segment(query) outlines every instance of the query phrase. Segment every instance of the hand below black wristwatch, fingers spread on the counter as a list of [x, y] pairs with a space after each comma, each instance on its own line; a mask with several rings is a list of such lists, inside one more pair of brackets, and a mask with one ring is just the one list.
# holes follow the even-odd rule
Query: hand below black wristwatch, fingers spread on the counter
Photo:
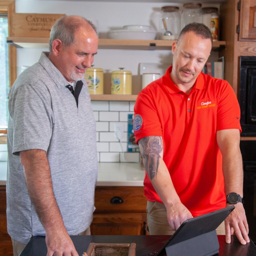
[[[231, 204], [227, 204], [227, 206], [231, 206]], [[226, 242], [230, 243], [230, 236], [235, 232], [241, 244], [250, 243], [250, 239], [248, 237], [249, 227], [243, 204], [239, 202], [235, 207], [236, 208], [225, 219]]]

